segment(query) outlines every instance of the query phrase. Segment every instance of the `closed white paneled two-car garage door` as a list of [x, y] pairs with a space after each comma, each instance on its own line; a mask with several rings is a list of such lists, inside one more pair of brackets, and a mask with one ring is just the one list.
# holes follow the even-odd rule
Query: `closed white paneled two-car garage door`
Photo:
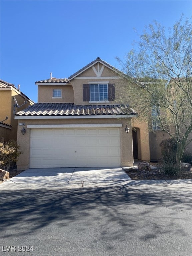
[[30, 168], [121, 165], [119, 128], [31, 129]]

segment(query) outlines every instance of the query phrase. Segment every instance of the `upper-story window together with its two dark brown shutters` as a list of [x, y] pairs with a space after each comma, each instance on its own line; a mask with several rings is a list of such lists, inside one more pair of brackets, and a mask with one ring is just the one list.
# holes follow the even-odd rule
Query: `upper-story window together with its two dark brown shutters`
[[115, 84], [89, 82], [83, 84], [83, 101], [109, 102], [115, 100]]

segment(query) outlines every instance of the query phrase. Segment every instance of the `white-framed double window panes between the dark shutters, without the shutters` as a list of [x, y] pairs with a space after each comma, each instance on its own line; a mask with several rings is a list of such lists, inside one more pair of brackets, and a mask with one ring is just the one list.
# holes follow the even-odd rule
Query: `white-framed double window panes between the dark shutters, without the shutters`
[[90, 84], [90, 101], [108, 101], [108, 84]]

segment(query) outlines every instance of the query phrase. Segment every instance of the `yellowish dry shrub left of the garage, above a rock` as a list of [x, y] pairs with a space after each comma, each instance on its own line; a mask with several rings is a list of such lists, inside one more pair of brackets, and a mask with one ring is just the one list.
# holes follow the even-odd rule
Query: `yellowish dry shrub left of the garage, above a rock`
[[16, 163], [17, 157], [21, 154], [17, 141], [10, 140], [5, 144], [0, 142], [0, 168], [9, 171], [12, 164]]

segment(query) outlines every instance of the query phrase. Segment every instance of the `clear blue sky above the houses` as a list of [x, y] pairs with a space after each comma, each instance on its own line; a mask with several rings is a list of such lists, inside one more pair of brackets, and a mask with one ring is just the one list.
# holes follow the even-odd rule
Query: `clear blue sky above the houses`
[[38, 80], [69, 77], [97, 57], [121, 68], [145, 26], [172, 27], [192, 1], [0, 1], [0, 79], [37, 102]]

